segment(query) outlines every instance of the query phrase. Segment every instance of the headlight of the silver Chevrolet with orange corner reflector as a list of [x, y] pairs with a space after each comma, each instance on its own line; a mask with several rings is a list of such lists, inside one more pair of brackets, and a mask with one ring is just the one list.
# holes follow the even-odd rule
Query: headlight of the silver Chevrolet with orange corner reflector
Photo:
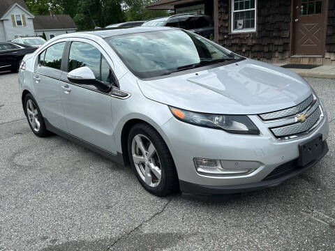
[[190, 112], [184, 109], [169, 107], [176, 119], [195, 126], [221, 129], [226, 132], [244, 135], [259, 135], [260, 130], [253, 121], [244, 115], [220, 115]]

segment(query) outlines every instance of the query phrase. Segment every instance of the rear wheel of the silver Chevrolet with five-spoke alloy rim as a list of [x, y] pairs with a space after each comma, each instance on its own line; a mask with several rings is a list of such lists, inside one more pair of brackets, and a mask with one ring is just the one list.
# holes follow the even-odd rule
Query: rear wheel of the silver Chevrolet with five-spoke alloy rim
[[40, 108], [38, 108], [37, 102], [31, 94], [27, 94], [24, 97], [24, 113], [27, 116], [27, 120], [31, 130], [38, 137], [46, 137], [50, 135], [50, 132], [45, 126], [45, 122]]

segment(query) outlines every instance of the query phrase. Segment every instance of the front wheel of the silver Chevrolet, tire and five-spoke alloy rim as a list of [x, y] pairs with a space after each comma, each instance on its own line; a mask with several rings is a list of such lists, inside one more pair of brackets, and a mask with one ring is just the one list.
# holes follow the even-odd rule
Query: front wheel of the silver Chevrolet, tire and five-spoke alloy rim
[[178, 189], [178, 178], [172, 155], [161, 135], [145, 123], [129, 132], [128, 155], [141, 185], [157, 196], [167, 196]]

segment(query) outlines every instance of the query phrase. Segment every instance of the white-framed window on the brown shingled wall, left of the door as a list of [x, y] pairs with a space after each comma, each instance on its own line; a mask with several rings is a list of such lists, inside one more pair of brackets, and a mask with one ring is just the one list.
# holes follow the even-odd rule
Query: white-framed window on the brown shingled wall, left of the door
[[257, 0], [232, 0], [232, 33], [256, 31]]

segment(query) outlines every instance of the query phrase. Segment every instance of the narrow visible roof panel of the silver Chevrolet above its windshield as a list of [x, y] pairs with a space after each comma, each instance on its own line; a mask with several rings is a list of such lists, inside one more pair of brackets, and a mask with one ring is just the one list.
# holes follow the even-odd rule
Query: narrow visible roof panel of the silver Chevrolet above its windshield
[[150, 31], [167, 31], [174, 30], [176, 28], [172, 27], [162, 27], [162, 26], [137, 26], [128, 29], [108, 29], [108, 30], [99, 30], [99, 31], [82, 31], [76, 33], [68, 33], [68, 36], [80, 36], [80, 34], [92, 34], [96, 36], [100, 36], [101, 38], [108, 38], [111, 36], [120, 36], [131, 33], [141, 33], [141, 32], [150, 32]]

